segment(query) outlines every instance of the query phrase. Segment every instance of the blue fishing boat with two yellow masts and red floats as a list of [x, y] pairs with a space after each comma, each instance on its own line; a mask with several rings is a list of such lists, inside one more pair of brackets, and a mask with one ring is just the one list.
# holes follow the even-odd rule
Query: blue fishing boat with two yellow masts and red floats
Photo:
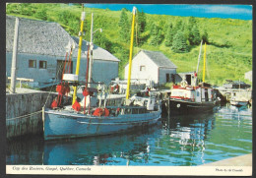
[[[136, 8], [133, 9], [131, 47], [129, 56], [130, 66], [132, 61], [135, 15]], [[82, 34], [83, 22], [85, 20], [84, 12], [82, 13], [81, 20], [82, 23], [80, 33]], [[80, 43], [81, 42], [82, 35], [80, 36]], [[97, 105], [90, 105], [91, 99], [93, 97], [97, 98], [97, 89], [89, 88], [87, 84], [83, 88], [83, 104], [79, 102], [76, 96], [77, 88], [79, 85], [78, 75], [81, 54], [81, 45], [79, 46], [80, 48], [77, 59], [76, 74], [63, 74], [63, 81], [70, 85], [74, 84], [75, 86], [72, 105], [58, 107], [58, 105], [56, 106], [55, 104], [55, 108], [43, 107], [42, 120], [44, 140], [109, 135], [114, 133], [126, 132], [128, 130], [138, 127], [141, 128], [156, 124], [160, 118], [160, 100], [158, 100], [158, 97], [156, 95], [151, 93], [148, 97], [130, 97], [129, 80], [126, 90], [126, 98], [124, 98], [124, 101], [121, 103], [121, 105], [107, 105], [107, 97], [105, 97], [104, 100], [97, 100]], [[90, 64], [88, 64], [88, 66], [90, 66]], [[130, 73], [131, 72], [129, 72], [129, 76], [131, 75]], [[130, 77], [128, 77], [128, 79], [130, 79]], [[102, 90], [103, 89], [101, 89], [100, 95], [103, 95]], [[102, 104], [102, 102], [104, 104]]]

